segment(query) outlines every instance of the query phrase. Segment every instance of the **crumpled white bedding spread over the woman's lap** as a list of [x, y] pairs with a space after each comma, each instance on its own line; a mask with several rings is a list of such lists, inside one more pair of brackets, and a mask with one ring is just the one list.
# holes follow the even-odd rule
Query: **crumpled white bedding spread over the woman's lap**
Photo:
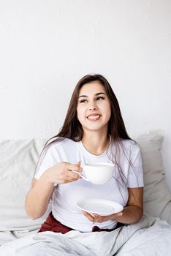
[[[0, 233], [0, 241], [2, 233]], [[12, 236], [11, 233], [8, 233]], [[6, 233], [6, 236], [8, 236]], [[7, 239], [7, 237], [6, 237]], [[112, 232], [42, 232], [15, 238], [0, 247], [1, 256], [157, 256], [170, 255], [171, 225], [145, 215], [140, 222]]]

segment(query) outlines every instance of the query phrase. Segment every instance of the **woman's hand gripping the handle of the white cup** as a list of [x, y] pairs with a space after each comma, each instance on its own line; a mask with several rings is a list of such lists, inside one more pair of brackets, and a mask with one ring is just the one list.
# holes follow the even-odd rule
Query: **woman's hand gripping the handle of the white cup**
[[80, 167], [80, 163], [72, 165], [69, 164], [69, 162], [60, 162], [47, 169], [41, 178], [50, 184], [66, 184], [72, 181], [77, 181], [80, 176], [72, 172], [72, 170], [81, 173], [82, 167]]

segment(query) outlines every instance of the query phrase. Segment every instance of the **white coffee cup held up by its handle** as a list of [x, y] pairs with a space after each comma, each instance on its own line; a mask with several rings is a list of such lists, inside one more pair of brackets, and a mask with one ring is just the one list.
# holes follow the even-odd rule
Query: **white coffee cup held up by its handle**
[[110, 181], [110, 178], [113, 176], [114, 165], [110, 163], [94, 162], [81, 165], [81, 167], [85, 176], [75, 170], [72, 171], [93, 184], [104, 184]]

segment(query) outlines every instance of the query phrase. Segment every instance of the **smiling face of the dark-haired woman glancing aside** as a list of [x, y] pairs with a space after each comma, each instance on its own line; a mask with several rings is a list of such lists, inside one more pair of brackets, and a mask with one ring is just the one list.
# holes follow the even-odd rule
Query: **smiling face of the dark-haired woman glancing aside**
[[86, 83], [77, 101], [77, 118], [83, 131], [107, 129], [111, 116], [110, 100], [99, 82]]

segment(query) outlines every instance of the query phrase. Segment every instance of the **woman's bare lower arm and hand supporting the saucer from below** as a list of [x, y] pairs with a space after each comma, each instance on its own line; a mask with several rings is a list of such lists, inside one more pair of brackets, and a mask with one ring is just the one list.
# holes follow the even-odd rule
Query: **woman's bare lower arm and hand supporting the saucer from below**
[[109, 219], [113, 219], [115, 222], [121, 222], [123, 224], [131, 224], [138, 222], [143, 213], [143, 187], [128, 188], [129, 200], [123, 211], [118, 214], [111, 214], [109, 216], [99, 216], [98, 214], [88, 214], [83, 211], [83, 214], [91, 222], [105, 222]]

